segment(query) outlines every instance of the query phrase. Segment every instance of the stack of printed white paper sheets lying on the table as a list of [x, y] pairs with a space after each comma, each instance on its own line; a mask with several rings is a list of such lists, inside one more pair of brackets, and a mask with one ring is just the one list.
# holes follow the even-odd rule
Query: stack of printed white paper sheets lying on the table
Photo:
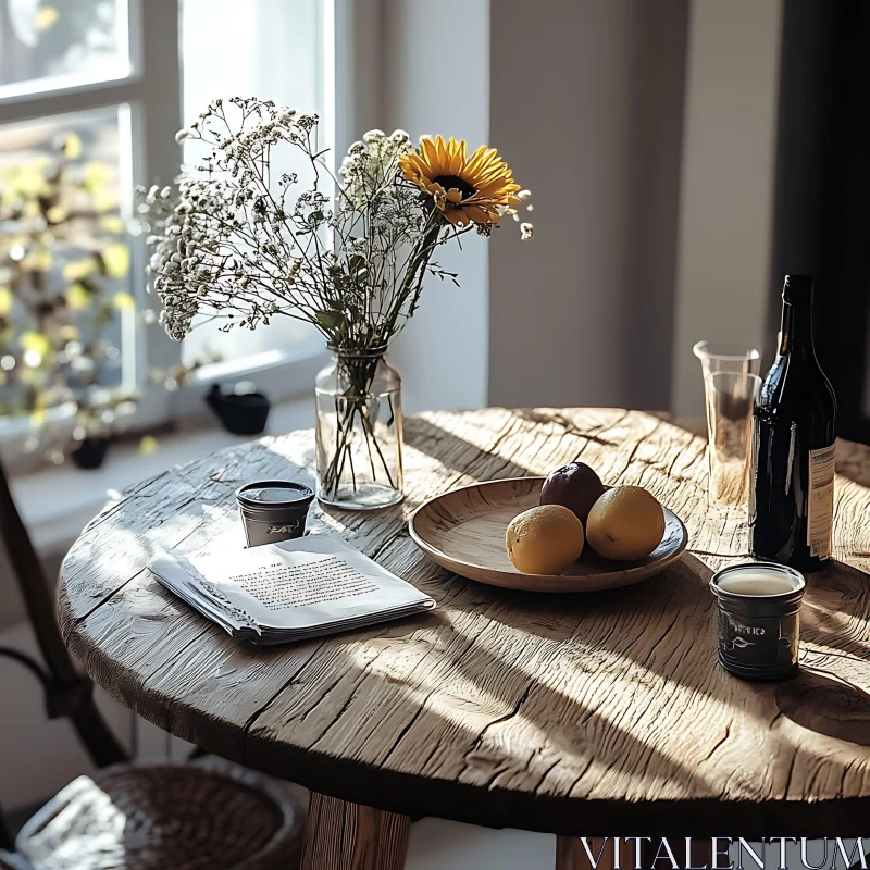
[[435, 607], [427, 595], [332, 535], [219, 547], [189, 560], [166, 554], [148, 567], [190, 607], [254, 644], [336, 634]]

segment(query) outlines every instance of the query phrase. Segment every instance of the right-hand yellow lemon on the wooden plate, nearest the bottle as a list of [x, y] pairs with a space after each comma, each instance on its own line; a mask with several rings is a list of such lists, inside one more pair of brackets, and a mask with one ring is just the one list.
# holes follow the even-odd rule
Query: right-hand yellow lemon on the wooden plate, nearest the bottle
[[661, 543], [664, 511], [641, 486], [614, 486], [589, 511], [586, 538], [605, 559], [643, 559]]

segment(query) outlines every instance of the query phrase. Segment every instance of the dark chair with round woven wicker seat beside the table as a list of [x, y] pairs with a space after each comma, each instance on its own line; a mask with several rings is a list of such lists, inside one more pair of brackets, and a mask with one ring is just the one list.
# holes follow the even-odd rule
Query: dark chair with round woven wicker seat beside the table
[[0, 868], [10, 870], [272, 870], [295, 867], [303, 810], [277, 781], [206, 757], [132, 762], [63, 644], [49, 586], [0, 465], [0, 582], [14, 577], [45, 667], [0, 647], [41, 683], [99, 769], [79, 776], [12, 838], [0, 809]]

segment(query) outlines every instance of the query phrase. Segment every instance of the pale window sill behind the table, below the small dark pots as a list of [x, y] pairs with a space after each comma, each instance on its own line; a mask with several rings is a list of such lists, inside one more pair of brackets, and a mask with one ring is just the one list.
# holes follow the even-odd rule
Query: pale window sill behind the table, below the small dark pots
[[[306, 428], [313, 422], [311, 399], [296, 399], [272, 409], [265, 434]], [[136, 443], [114, 444], [105, 463], [94, 471], [82, 471], [72, 464], [51, 467], [13, 477], [10, 484], [34, 546], [40, 556], [49, 557], [65, 552], [113, 493], [178, 463], [245, 440], [248, 439], [214, 426], [171, 433], [159, 436], [158, 449], [147, 456]]]

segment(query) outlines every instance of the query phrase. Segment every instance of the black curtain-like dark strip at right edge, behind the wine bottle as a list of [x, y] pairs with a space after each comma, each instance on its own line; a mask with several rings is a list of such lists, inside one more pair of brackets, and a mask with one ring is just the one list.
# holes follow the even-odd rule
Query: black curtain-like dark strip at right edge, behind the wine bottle
[[816, 276], [837, 434], [870, 444], [870, 75], [866, 0], [785, 0], [770, 345], [782, 275]]

